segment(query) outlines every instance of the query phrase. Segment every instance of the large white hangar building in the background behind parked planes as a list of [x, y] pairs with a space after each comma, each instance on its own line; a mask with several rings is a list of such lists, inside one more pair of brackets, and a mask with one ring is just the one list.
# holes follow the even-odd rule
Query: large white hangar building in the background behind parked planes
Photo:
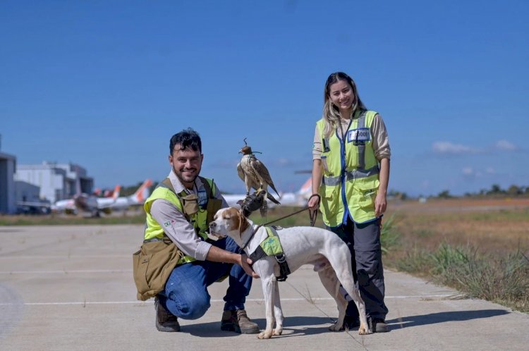
[[[54, 203], [70, 199], [76, 194], [92, 193], [94, 180], [87, 176], [85, 168], [76, 164], [56, 164], [44, 161], [42, 164], [19, 164], [15, 180], [40, 187], [40, 199]], [[22, 199], [17, 199], [22, 201]]]

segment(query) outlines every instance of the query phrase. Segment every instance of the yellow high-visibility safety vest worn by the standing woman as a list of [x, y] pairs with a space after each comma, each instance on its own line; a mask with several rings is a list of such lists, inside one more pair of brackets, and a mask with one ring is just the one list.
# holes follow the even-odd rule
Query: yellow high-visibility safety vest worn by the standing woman
[[320, 210], [329, 227], [346, 223], [351, 216], [356, 223], [372, 221], [379, 187], [379, 163], [372, 147], [370, 128], [375, 111], [356, 111], [341, 140], [335, 131], [324, 136], [325, 121], [316, 125], [322, 140], [323, 179], [320, 187]]

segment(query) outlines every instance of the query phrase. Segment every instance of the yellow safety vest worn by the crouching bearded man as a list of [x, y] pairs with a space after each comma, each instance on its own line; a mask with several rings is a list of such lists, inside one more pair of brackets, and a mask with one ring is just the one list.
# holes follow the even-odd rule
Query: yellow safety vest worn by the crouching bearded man
[[[199, 177], [200, 180], [202, 180], [202, 185], [204, 185], [205, 189], [199, 189], [199, 210], [196, 214], [193, 214], [193, 216], [187, 216], [186, 218], [188, 221], [193, 225], [193, 228], [195, 228], [195, 232], [197, 235], [202, 237], [204, 240], [207, 239], [207, 230], [209, 229], [208, 226], [208, 210], [212, 211], [213, 209], [209, 206], [212, 202], [216, 202], [213, 198], [214, 192], [214, 183], [213, 180]], [[168, 183], [170, 184], [170, 183]], [[207, 197], [207, 202], [205, 204], [200, 204], [200, 192], [205, 192], [203, 196]], [[174, 192], [174, 189], [171, 187], [168, 187], [163, 182], [159, 183], [159, 185], [154, 189], [150, 197], [148, 197], [145, 200], [145, 204], [143, 204], [143, 208], [145, 209], [145, 214], [147, 214], [147, 219], [145, 223], [145, 236], [144, 240], [163, 240], [164, 238], [164, 228], [158, 223], [154, 218], [152, 218], [150, 210], [152, 207], [152, 202], [156, 199], [166, 199], [167, 201], [171, 202], [171, 204], [174, 204], [176, 208], [184, 213], [183, 211], [183, 204], [181, 202], [181, 197], [186, 197], [188, 195], [186, 191], [182, 191], [180, 194], [176, 194]], [[220, 206], [218, 206], [220, 208]], [[216, 211], [216, 210], [215, 210]], [[214, 213], [213, 213], [214, 214]], [[171, 226], [171, 221], [167, 221], [166, 223], [162, 223], [163, 226]], [[176, 243], [175, 243], [176, 244]], [[178, 245], [177, 245], [178, 247]], [[184, 255], [181, 257], [181, 259], [178, 260], [177, 264], [183, 264], [187, 262], [195, 261], [194, 257], [190, 257], [188, 255]]]

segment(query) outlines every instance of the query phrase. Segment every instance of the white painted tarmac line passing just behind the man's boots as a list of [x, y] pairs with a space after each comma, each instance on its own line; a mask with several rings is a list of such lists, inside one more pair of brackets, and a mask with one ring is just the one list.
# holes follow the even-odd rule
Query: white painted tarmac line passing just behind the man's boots
[[[386, 299], [416, 299], [416, 298], [442, 298], [452, 297], [454, 295], [398, 295], [398, 296], [386, 296]], [[310, 299], [311, 301], [334, 301], [332, 297], [317, 297]], [[246, 299], [246, 302], [263, 302], [263, 299]], [[281, 299], [281, 301], [307, 301], [302, 297]], [[223, 302], [224, 300], [211, 300], [211, 302]], [[86, 305], [86, 304], [154, 304], [153, 301], [94, 301], [94, 302], [0, 302], [0, 306], [12, 306], [14, 304], [23, 304], [25, 306], [53, 306], [53, 305]]]

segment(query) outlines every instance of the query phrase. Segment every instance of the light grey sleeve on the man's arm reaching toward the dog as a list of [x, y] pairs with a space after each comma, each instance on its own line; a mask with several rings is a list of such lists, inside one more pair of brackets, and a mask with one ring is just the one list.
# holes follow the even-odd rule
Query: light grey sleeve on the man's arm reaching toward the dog
[[195, 233], [195, 228], [174, 204], [165, 199], [155, 200], [152, 203], [151, 216], [184, 254], [205, 261], [212, 245]]

